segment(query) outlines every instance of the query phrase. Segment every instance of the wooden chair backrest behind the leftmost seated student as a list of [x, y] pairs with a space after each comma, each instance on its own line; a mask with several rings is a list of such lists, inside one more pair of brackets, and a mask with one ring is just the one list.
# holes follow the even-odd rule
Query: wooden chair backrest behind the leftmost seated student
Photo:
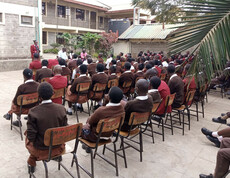
[[24, 95], [19, 95], [17, 97], [18, 106], [34, 104], [34, 103], [38, 103], [38, 93], [24, 94]]

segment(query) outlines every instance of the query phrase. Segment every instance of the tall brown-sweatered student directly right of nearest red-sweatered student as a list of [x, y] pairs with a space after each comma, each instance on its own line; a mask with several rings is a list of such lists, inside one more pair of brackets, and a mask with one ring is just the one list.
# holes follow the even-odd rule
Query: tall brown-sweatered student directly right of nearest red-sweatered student
[[172, 107], [180, 108], [184, 102], [184, 82], [177, 74], [175, 74], [174, 65], [169, 65], [167, 71], [170, 77], [168, 82], [170, 93], [171, 94], [176, 93]]

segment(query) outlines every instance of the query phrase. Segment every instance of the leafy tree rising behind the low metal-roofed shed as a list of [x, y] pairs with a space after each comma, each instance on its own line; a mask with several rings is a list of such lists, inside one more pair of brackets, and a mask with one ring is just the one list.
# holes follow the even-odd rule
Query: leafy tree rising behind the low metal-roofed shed
[[132, 0], [134, 6], [151, 11], [156, 15], [156, 21], [160, 23], [176, 23], [182, 13], [178, 7], [183, 0]]

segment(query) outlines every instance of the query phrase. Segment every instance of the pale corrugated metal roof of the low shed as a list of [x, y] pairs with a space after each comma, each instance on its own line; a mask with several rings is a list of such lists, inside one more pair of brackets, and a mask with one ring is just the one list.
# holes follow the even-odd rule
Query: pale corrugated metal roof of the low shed
[[140, 24], [130, 26], [118, 39], [158, 39], [165, 40], [167, 36], [184, 24]]

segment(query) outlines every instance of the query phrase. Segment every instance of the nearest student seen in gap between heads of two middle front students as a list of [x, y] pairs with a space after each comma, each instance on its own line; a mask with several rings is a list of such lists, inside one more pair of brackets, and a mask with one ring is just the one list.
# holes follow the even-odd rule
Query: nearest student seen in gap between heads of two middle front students
[[131, 64], [129, 62], [126, 62], [124, 65], [125, 68], [125, 72], [123, 74], [121, 74], [120, 78], [119, 78], [119, 87], [122, 88], [123, 87], [123, 83], [125, 81], [132, 81], [132, 85], [134, 84], [134, 74], [131, 72], [130, 68], [131, 68]]

